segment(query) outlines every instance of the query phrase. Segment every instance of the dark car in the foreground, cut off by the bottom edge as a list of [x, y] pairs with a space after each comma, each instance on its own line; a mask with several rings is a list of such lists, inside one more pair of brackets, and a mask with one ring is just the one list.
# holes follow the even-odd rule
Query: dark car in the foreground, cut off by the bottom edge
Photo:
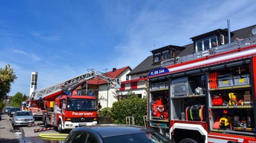
[[95, 125], [72, 129], [65, 143], [173, 143], [152, 129], [133, 125]]

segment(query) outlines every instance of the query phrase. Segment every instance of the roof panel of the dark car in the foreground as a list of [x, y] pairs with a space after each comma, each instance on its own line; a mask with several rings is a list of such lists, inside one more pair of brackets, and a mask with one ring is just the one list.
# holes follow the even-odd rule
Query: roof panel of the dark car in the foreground
[[94, 134], [99, 134], [102, 137], [110, 137], [110, 136], [123, 135], [123, 134], [135, 134], [140, 132], [154, 132], [153, 130], [142, 127], [142, 126], [113, 125], [113, 124], [83, 126], [83, 127], [75, 128], [73, 130], [74, 132], [79, 132], [79, 131], [92, 132]]

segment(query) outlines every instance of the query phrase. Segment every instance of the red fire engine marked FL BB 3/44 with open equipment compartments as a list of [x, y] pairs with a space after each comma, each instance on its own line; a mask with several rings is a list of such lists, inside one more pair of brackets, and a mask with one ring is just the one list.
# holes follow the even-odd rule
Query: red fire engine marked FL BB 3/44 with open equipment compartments
[[256, 36], [148, 74], [148, 126], [176, 143], [256, 143]]

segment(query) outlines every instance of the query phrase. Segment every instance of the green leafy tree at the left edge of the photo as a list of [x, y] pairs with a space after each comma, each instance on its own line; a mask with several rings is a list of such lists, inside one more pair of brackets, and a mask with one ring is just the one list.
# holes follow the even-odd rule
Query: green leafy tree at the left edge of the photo
[[7, 98], [7, 94], [11, 91], [11, 83], [17, 79], [14, 69], [8, 64], [5, 68], [0, 68], [0, 101]]

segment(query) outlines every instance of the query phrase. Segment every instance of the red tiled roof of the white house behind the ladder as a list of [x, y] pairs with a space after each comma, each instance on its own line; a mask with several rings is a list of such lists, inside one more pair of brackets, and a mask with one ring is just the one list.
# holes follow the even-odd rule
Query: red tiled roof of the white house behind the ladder
[[[132, 70], [132, 69], [130, 68], [130, 66], [126, 66], [126, 67], [124, 67], [124, 68], [116, 69], [116, 71], [114, 71], [114, 72], [113, 72], [113, 71], [106, 72], [105, 74], [106, 74], [106, 75], [109, 75], [110, 77], [116, 78], [116, 77], [118, 77], [120, 74], [122, 74], [122, 72], [125, 71], [127, 68], [129, 68], [130, 70]], [[93, 85], [100, 85], [100, 84], [105, 84], [105, 83], [106, 83], [105, 80], [101, 80], [101, 79], [99, 79], [99, 78], [97, 78], [97, 77], [95, 77], [95, 78], [92, 79], [92, 80], [88, 80], [88, 84], [93, 84]]]

